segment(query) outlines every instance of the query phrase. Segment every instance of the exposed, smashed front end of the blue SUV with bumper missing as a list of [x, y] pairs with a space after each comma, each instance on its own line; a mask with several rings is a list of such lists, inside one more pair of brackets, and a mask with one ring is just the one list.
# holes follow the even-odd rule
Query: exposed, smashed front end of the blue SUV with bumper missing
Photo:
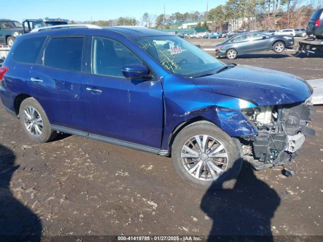
[[243, 157], [255, 169], [286, 164], [298, 155], [305, 136], [314, 135], [307, 125], [315, 109], [310, 103], [258, 106], [242, 109], [258, 131], [257, 136], [240, 139]]

